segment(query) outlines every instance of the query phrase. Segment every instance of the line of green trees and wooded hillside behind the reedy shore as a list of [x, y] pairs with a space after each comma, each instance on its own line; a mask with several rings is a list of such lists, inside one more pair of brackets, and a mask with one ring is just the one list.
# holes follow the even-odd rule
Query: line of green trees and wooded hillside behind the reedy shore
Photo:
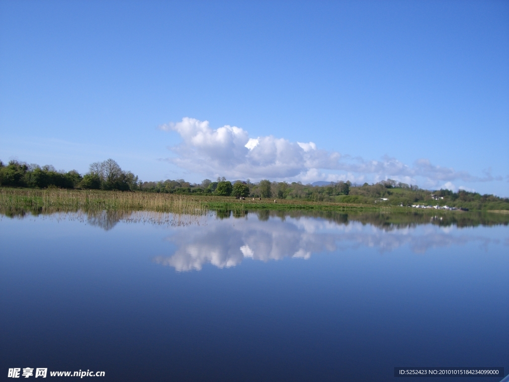
[[425, 190], [387, 179], [375, 184], [352, 184], [350, 181], [331, 182], [313, 186], [301, 182], [274, 182], [263, 179], [252, 183], [249, 179], [229, 181], [218, 177], [190, 183], [184, 179], [142, 182], [130, 171], [124, 171], [113, 159], [94, 162], [89, 171], [80, 175], [71, 170], [56, 171], [53, 166], [28, 165], [11, 160], [7, 165], [0, 161], [0, 185], [11, 187], [59, 187], [76, 189], [104, 189], [149, 193], [234, 196], [270, 199], [297, 199], [316, 202], [340, 202], [380, 205], [411, 206], [416, 203], [448, 205], [471, 209], [509, 209], [509, 199], [494, 195], [447, 189]]

